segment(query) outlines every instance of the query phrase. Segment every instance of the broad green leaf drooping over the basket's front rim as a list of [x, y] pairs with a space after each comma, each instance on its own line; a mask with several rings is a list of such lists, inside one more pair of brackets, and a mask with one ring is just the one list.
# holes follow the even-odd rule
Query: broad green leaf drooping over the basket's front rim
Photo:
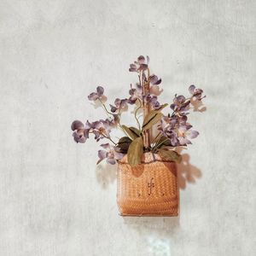
[[137, 137], [128, 149], [128, 163], [130, 166], [137, 166], [142, 162], [143, 156], [143, 138]]

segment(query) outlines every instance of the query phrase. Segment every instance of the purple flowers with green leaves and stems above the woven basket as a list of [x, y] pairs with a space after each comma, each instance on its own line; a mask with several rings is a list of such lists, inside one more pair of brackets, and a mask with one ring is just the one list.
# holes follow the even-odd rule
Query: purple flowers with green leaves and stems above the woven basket
[[[137, 166], [142, 163], [143, 154], [147, 152], [158, 154], [163, 160], [180, 162], [182, 157], [177, 153], [177, 148], [186, 147], [191, 144], [191, 139], [199, 135], [189, 124], [188, 114], [191, 108], [197, 109], [202, 105], [201, 100], [205, 97], [202, 96], [203, 90], [190, 85], [189, 97], [175, 95], [171, 103], [160, 104], [158, 96], [163, 91], [160, 90], [161, 79], [150, 73], [148, 63], [149, 57], [141, 55], [130, 65], [129, 71], [137, 73], [138, 83], [131, 85], [127, 98], [117, 98], [109, 108], [102, 86], [90, 93], [89, 101], [100, 102], [108, 114], [107, 119], [94, 122], [87, 120], [85, 124], [79, 120], [73, 121], [71, 129], [76, 143], [85, 143], [90, 134], [94, 135], [96, 142], [108, 141], [101, 144], [97, 164], [107, 160], [108, 164], [114, 165], [127, 154], [129, 165]], [[121, 115], [129, 109], [129, 105], [135, 106], [137, 127], [121, 122]], [[167, 106], [171, 112], [164, 115], [162, 110]], [[143, 120], [140, 120], [141, 113]], [[155, 136], [153, 127], [157, 131]], [[113, 129], [123, 131], [124, 137], [114, 141], [111, 136]]]

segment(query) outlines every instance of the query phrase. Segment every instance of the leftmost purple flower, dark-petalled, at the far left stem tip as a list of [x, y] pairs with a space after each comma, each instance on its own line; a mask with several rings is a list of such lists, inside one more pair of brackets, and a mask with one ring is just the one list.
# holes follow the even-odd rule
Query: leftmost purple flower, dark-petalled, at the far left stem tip
[[89, 138], [90, 132], [90, 123], [87, 120], [86, 124], [84, 125], [81, 121], [75, 120], [71, 125], [71, 130], [73, 132], [73, 139], [76, 143], [85, 143], [86, 139]]

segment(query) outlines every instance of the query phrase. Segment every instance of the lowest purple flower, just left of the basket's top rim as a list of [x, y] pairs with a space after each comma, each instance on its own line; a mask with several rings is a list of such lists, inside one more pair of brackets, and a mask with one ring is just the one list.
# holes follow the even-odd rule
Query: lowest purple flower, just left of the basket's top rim
[[119, 153], [118, 147], [113, 147], [109, 143], [102, 144], [101, 147], [106, 150], [98, 151], [99, 160], [97, 164], [99, 164], [102, 160], [107, 159], [108, 164], [114, 165], [116, 160], [121, 160], [124, 157], [124, 154]]

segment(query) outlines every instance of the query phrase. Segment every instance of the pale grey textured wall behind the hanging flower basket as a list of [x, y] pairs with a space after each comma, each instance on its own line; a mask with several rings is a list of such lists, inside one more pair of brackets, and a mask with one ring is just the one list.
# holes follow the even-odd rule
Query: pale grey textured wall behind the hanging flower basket
[[[255, 255], [255, 1], [0, 2], [0, 255]], [[115, 169], [73, 143], [86, 96], [126, 96], [149, 55], [165, 95], [207, 111], [179, 166], [179, 218], [121, 218]], [[129, 118], [126, 118], [129, 120]]]

